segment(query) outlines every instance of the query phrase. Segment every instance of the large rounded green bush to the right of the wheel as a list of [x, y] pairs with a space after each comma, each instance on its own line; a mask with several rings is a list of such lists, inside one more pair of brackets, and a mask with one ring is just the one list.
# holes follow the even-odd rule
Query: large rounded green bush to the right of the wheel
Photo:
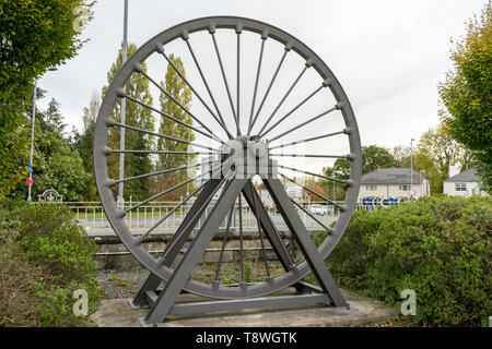
[[[356, 212], [328, 258], [342, 287], [394, 304], [417, 293], [412, 321], [479, 326], [492, 315], [492, 200], [424, 197]], [[319, 237], [323, 240], [323, 237]]]

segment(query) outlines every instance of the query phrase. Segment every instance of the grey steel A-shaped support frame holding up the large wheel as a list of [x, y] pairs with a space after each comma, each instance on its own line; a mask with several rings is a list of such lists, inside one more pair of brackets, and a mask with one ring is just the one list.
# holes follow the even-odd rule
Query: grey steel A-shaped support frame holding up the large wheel
[[[325, 303], [337, 308], [348, 306], [343, 296], [338, 289], [336, 281], [331, 277], [330, 272], [326, 267], [320, 253], [318, 252], [307, 229], [298, 217], [280, 180], [263, 179], [263, 182], [268, 191], [270, 192], [274, 203], [277, 204], [289, 229], [291, 230], [291, 233], [295, 239], [301, 252], [303, 253], [306, 263], [309, 265], [320, 286], [311, 286], [303, 288], [317, 293], [282, 297], [261, 297], [253, 299], [244, 298], [234, 300], [213, 300], [206, 302], [175, 304], [177, 296], [183, 291], [187, 282], [190, 280], [191, 273], [195, 266], [212, 241], [213, 236], [216, 233], [221, 221], [224, 219], [230, 208], [233, 207], [235, 200], [239, 195], [239, 193], [244, 194], [251, 208], [255, 207], [254, 201], [257, 201], [256, 207], [258, 207], [258, 209], [255, 212], [255, 215], [259, 216], [261, 227], [266, 232], [268, 240], [270, 241], [273, 250], [278, 253], [284, 268], [286, 270], [295, 270], [295, 264], [292, 260], [292, 256], [286, 251], [286, 248], [280, 239], [280, 234], [278, 233], [274, 225], [265, 210], [265, 207], [262, 205], [258, 205], [258, 202], [260, 203], [260, 200], [250, 180], [233, 179], [225, 184], [221, 197], [213, 206], [211, 214], [204, 221], [204, 225], [201, 227], [200, 231], [197, 233], [196, 238], [186, 250], [184, 257], [174, 269], [172, 277], [164, 284], [164, 288], [159, 293], [159, 297], [155, 297], [152, 300], [153, 304], [149, 314], [144, 318], [140, 318], [140, 323], [142, 326], [163, 325], [165, 317], [171, 314], [192, 314], [262, 306], [273, 308], [301, 305], [311, 303]], [[163, 256], [165, 256], [165, 264], [167, 266], [171, 266], [171, 264], [173, 264], [186, 239], [191, 233], [192, 228], [195, 227], [194, 224], [197, 222], [200, 216], [200, 208], [203, 207], [203, 204], [208, 204], [211, 200], [211, 196], [213, 196], [214, 191], [212, 188], [214, 185], [220, 185], [220, 183], [211, 183], [204, 189], [202, 194], [200, 194], [190, 213], [187, 215], [187, 218], [191, 218], [187, 219], [186, 222], [181, 222], [178, 231], [176, 232], [177, 238], [173, 239], [176, 241], [176, 243], [172, 245], [169, 244], [171, 249], [166, 249], [166, 252], [164, 252]], [[199, 202], [201, 204], [199, 204]], [[195, 214], [192, 214], [192, 212], [195, 212]], [[130, 304], [137, 306], [142, 305], [144, 302], [147, 302], [149, 291], [154, 292], [153, 294], [156, 294], [155, 291], [160, 284], [161, 279], [157, 276], [151, 274], [143, 285], [142, 289], [140, 290], [139, 294], [136, 297], [133, 302], [130, 302]], [[296, 289], [300, 288], [296, 287]]]

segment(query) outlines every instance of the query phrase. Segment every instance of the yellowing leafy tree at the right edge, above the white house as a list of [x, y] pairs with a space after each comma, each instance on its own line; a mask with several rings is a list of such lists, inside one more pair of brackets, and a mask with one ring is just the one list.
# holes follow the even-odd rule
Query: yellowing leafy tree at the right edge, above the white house
[[[452, 44], [453, 40], [452, 40]], [[475, 152], [487, 186], [492, 181], [492, 2], [475, 15], [452, 50], [453, 70], [438, 85], [449, 134]]]

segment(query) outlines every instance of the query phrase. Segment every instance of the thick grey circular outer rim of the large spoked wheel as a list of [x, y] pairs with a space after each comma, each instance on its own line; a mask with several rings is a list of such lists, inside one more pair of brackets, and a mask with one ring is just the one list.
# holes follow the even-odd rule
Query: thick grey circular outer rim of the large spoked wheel
[[[163, 280], [167, 280], [171, 277], [173, 269], [162, 266], [159, 260], [153, 257], [149, 253], [149, 251], [147, 251], [143, 248], [143, 244], [139, 241], [139, 239], [136, 239], [133, 237], [131, 230], [125, 222], [124, 212], [121, 209], [118, 209], [118, 205], [112, 192], [112, 188], [113, 185], [115, 185], [115, 180], [109, 179], [108, 177], [107, 159], [106, 159], [107, 155], [110, 154], [110, 149], [107, 148], [108, 130], [115, 127], [115, 121], [112, 120], [110, 116], [118, 99], [125, 95], [125, 92], [122, 89], [125, 83], [130, 79], [131, 74], [133, 74], [134, 72], [139, 72], [141, 67], [140, 64], [143, 63], [149, 57], [151, 57], [152, 55], [161, 55], [163, 48], [165, 48], [166, 45], [175, 40], [184, 39], [186, 44], [190, 43], [192, 40], [191, 34], [195, 34], [197, 32], [209, 32], [214, 40], [214, 44], [216, 44], [213, 34], [218, 29], [235, 31], [238, 37], [238, 41], [242, 33], [251, 32], [259, 36], [262, 43], [261, 45], [263, 45], [267, 40], [274, 40], [277, 43], [284, 45], [286, 47], [285, 52], [289, 51], [295, 52], [302, 59], [305, 60], [306, 69], [313, 68], [316, 71], [316, 73], [319, 75], [320, 81], [323, 82], [323, 86], [328, 87], [325, 89], [329, 91], [331, 93], [331, 96], [337, 101], [336, 109], [341, 113], [341, 117], [345, 125], [345, 129], [342, 130], [343, 132], [338, 133], [344, 133], [348, 136], [348, 145], [350, 148], [350, 160], [351, 160], [350, 179], [347, 181], [348, 189], [343, 206], [344, 212], [340, 214], [340, 217], [338, 218], [335, 227], [332, 228], [333, 230], [332, 234], [330, 234], [318, 249], [324, 258], [326, 258], [331, 253], [333, 248], [338, 244], [339, 240], [342, 238], [349, 225], [351, 215], [355, 209], [356, 205], [361, 178], [361, 149], [360, 149], [361, 146], [360, 146], [359, 130], [352, 107], [345, 93], [343, 92], [343, 88], [341, 87], [340, 83], [332, 74], [332, 72], [329, 70], [329, 68], [323, 62], [323, 60], [319, 59], [319, 57], [314, 51], [312, 51], [307, 46], [305, 46], [302, 41], [291, 36], [290, 34], [274, 26], [255, 20], [233, 17], [233, 16], [214, 16], [214, 17], [198, 19], [178, 24], [174, 27], [171, 27], [162, 32], [161, 34], [154, 36], [152, 39], [147, 41], [122, 65], [121, 70], [115, 76], [104, 97], [103, 104], [99, 109], [99, 115], [96, 121], [96, 130], [94, 139], [94, 172], [98, 195], [101, 197], [101, 202], [106, 213], [106, 216], [112, 227], [114, 228], [115, 232], [118, 234], [118, 237], [120, 238], [121, 242], [126, 245], [126, 248], [132, 253], [132, 255], [151, 273], [157, 275]], [[237, 73], [237, 75], [239, 76], [239, 73]], [[231, 75], [230, 77], [232, 76], [233, 75]], [[268, 80], [268, 77], [266, 79]], [[224, 81], [226, 80], [224, 79]], [[258, 77], [256, 80], [256, 84], [257, 83]], [[223, 88], [223, 86], [221, 87]], [[251, 94], [253, 92], [248, 93]], [[254, 94], [255, 96], [257, 96], [256, 87]], [[268, 96], [268, 89], [265, 96]], [[232, 97], [231, 94], [229, 97], [233, 110], [232, 118], [236, 118], [236, 116], [234, 115], [234, 101], [231, 100], [233, 99], [231, 98]], [[259, 94], [256, 99], [257, 105], [259, 105], [258, 108], [261, 108], [261, 97], [262, 96]], [[239, 105], [238, 100], [239, 97], [237, 97], [236, 107]], [[251, 110], [254, 109], [255, 108], [251, 108]], [[247, 115], [248, 112], [245, 113], [245, 116]], [[218, 112], [215, 113], [215, 117], [219, 117]], [[265, 125], [263, 122], [267, 121], [268, 118], [270, 117], [271, 115], [269, 113], [261, 115], [260, 112], [258, 112], [258, 117], [256, 118], [256, 120], [255, 117], [249, 118], [248, 131], [249, 129], [251, 129], [250, 130], [251, 132], [254, 131], [254, 128], [256, 127], [256, 123], [254, 121], [258, 122], [260, 125]], [[270, 123], [267, 121], [267, 127], [262, 127], [259, 130], [262, 131], [263, 133], [268, 132], [272, 125], [273, 127], [276, 125], [277, 121], [281, 120], [281, 118], [283, 118], [282, 115], [277, 115], [270, 118], [269, 120]], [[221, 118], [218, 119], [219, 119], [218, 123], [220, 125], [220, 120], [222, 119]], [[249, 128], [251, 123], [254, 125], [253, 128]], [[207, 125], [204, 127], [207, 128]], [[211, 130], [210, 127], [208, 129]], [[241, 129], [241, 127], [238, 125], [237, 129]], [[271, 129], [270, 131], [272, 132], [274, 129], [276, 128]], [[277, 140], [281, 140], [283, 137], [282, 139], [283, 142], [277, 143], [274, 144], [274, 146], [278, 146], [282, 143], [291, 143], [288, 142], [288, 140], [284, 139], [284, 136], [286, 134], [292, 135], [292, 132], [289, 132], [285, 135], [282, 135], [281, 133], [280, 136], [278, 133], [276, 134], [274, 132], [272, 133], [268, 132], [268, 134], [270, 135], [269, 141], [271, 143], [273, 143]], [[283, 156], [281, 158], [283, 159]], [[280, 168], [282, 168], [282, 170], [289, 169], [289, 167], [285, 166], [282, 167], [282, 165], [280, 166]], [[309, 172], [306, 171], [305, 173], [308, 174]], [[282, 288], [293, 285], [294, 282], [307, 276], [309, 272], [311, 270], [307, 264], [305, 262], [302, 262], [301, 264], [297, 265], [297, 268], [294, 272], [292, 270], [286, 272], [284, 275], [276, 278], [273, 282], [265, 281], [248, 286], [247, 288], [239, 288], [239, 287], [223, 287], [223, 286], [214, 287], [210, 284], [208, 285], [196, 280], [190, 280], [190, 282], [186, 287], [186, 290], [203, 297], [220, 298], [220, 299], [260, 297], [273, 293]]]

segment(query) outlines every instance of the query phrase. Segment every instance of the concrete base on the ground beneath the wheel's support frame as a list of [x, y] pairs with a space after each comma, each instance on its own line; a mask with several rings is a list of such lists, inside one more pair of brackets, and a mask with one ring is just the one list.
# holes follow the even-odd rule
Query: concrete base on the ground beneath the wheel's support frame
[[[292, 291], [292, 289], [290, 290]], [[282, 292], [285, 294], [285, 292]], [[200, 315], [168, 316], [167, 327], [353, 327], [395, 316], [395, 311], [380, 303], [342, 290], [350, 310], [324, 305], [289, 306], [216, 312]], [[178, 302], [203, 300], [194, 294], [180, 294]], [[92, 320], [101, 327], [140, 327], [139, 317], [149, 309], [132, 310], [127, 299], [104, 299]]]

